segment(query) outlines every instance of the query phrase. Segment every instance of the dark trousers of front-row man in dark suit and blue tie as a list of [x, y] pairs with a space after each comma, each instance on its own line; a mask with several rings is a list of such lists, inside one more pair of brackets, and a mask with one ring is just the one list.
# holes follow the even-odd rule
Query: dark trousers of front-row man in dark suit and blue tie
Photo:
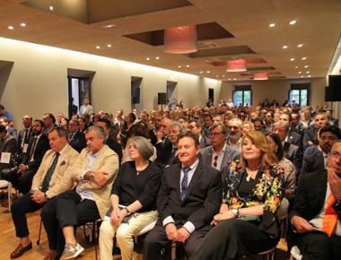
[[[181, 228], [183, 224], [177, 225], [177, 229]], [[201, 230], [195, 230], [190, 234], [185, 244], [186, 256], [191, 256], [199, 245], [201, 239], [205, 237], [212, 226], [205, 226]], [[144, 259], [160, 259], [162, 248], [169, 246], [171, 241], [167, 238], [166, 230], [158, 221], [144, 240]]]

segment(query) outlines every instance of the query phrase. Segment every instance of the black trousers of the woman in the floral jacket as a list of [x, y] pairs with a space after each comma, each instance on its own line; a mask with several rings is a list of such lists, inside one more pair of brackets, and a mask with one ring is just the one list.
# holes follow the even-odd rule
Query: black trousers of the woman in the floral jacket
[[278, 238], [270, 238], [248, 221], [220, 221], [201, 241], [190, 260], [227, 260], [258, 254], [275, 247]]

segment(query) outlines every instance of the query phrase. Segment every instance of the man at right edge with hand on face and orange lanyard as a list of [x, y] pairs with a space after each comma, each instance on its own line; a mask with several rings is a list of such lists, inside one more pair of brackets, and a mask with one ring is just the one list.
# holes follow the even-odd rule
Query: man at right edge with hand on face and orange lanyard
[[302, 259], [341, 256], [341, 142], [328, 154], [328, 168], [302, 177], [289, 218]]

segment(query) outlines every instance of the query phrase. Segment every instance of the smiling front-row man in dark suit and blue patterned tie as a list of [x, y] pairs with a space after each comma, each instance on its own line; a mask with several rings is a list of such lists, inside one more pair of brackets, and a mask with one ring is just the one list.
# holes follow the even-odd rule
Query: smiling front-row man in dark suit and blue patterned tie
[[197, 135], [179, 135], [179, 160], [164, 169], [157, 198], [159, 220], [144, 240], [144, 259], [160, 259], [162, 247], [170, 241], [185, 244], [191, 256], [222, 203], [222, 180], [218, 170], [197, 159]]

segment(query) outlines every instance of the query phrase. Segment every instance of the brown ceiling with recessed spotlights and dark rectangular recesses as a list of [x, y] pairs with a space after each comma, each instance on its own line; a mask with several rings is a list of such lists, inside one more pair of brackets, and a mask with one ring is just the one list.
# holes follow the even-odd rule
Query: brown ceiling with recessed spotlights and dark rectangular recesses
[[[227, 81], [325, 77], [339, 0], [0, 0], [0, 37]], [[163, 30], [197, 25], [198, 51], [163, 50]], [[247, 72], [226, 72], [246, 59]], [[1, 60], [1, 51], [0, 51]]]

